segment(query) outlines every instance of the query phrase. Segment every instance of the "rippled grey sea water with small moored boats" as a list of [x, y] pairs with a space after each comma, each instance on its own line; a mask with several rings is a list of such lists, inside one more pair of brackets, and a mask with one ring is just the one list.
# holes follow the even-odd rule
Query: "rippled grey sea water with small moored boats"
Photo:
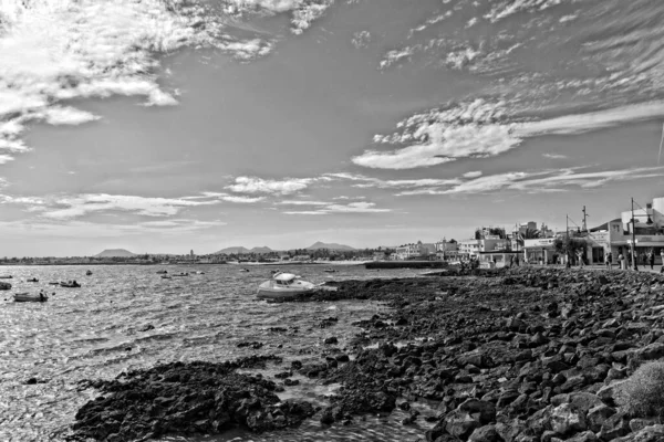
[[[93, 275], [85, 276], [91, 270]], [[277, 354], [287, 364], [259, 370], [266, 376], [283, 371], [289, 360], [320, 360], [323, 339], [339, 338], [339, 347], [360, 332], [351, 323], [384, 311], [378, 303], [267, 304], [256, 299], [259, 283], [273, 266], [0, 266], [13, 287], [0, 292], [0, 440], [58, 441], [73, 423], [76, 410], [94, 390], [76, 391], [81, 379], [111, 379], [127, 369], [147, 368], [174, 360], [224, 361], [252, 354]], [[418, 271], [366, 271], [364, 266], [298, 265], [292, 271], [307, 281], [413, 276]], [[203, 275], [163, 280], [156, 274], [203, 271]], [[39, 283], [25, 280], [37, 277]], [[76, 280], [81, 288], [62, 288], [49, 282]], [[6, 280], [2, 280], [6, 281]], [[14, 303], [17, 292], [50, 294], [46, 303]], [[54, 293], [54, 294], [52, 294]], [[339, 323], [320, 328], [330, 316]], [[146, 326], [153, 329], [141, 332]], [[270, 327], [288, 328], [272, 333]], [[297, 327], [297, 329], [294, 328]], [[242, 341], [261, 341], [258, 350], [238, 348]], [[24, 385], [35, 377], [46, 383]], [[334, 386], [294, 377], [281, 399], [301, 398], [324, 404]], [[425, 404], [423, 407], [426, 408]], [[163, 441], [409, 441], [426, 425], [404, 427], [401, 411], [390, 417], [323, 428], [310, 420], [299, 429], [255, 435], [243, 432], [217, 436], [166, 438]]]

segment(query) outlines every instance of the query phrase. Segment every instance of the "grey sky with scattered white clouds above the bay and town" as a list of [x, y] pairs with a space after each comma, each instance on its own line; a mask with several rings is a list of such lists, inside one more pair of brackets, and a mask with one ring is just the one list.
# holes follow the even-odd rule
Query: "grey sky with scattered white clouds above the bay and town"
[[661, 0], [4, 0], [0, 256], [355, 248], [664, 196]]

